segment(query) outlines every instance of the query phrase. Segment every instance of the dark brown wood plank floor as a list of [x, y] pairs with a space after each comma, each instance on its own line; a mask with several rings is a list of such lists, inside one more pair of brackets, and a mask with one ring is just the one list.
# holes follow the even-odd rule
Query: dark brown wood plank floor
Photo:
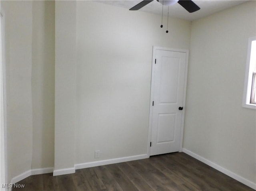
[[74, 174], [32, 175], [12, 191], [254, 191], [185, 153], [78, 169]]

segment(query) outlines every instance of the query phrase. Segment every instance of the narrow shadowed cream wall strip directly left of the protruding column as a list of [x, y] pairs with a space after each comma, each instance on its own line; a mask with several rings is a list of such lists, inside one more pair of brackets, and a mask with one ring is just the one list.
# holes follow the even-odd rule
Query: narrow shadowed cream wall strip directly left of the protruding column
[[32, 169], [54, 166], [54, 1], [33, 1]]

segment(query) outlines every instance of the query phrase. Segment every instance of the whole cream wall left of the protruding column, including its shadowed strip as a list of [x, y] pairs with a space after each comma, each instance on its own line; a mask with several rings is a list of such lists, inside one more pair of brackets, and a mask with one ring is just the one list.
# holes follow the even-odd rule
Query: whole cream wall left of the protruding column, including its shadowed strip
[[11, 183], [31, 169], [54, 166], [55, 10], [53, 1], [1, 1], [1, 10], [6, 19], [6, 183]]

